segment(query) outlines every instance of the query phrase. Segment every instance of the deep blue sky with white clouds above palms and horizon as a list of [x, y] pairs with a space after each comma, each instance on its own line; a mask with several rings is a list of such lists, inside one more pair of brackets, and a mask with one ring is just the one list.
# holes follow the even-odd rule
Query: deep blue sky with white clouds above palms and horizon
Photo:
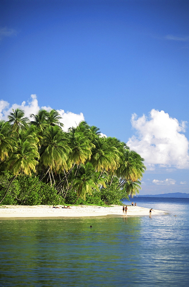
[[[3, 0], [0, 117], [59, 110], [145, 158], [140, 194], [189, 193], [189, 1]], [[32, 96], [31, 96], [32, 95]]]

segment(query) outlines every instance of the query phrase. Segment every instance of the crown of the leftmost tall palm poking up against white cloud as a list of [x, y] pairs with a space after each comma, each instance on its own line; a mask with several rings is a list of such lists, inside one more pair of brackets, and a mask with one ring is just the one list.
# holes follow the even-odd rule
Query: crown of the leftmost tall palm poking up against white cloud
[[16, 132], [18, 132], [20, 128], [26, 128], [27, 122], [29, 121], [27, 117], [24, 117], [24, 111], [20, 110], [19, 108], [13, 110], [13, 113], [10, 113], [8, 119], [8, 122], [11, 123], [12, 131]]

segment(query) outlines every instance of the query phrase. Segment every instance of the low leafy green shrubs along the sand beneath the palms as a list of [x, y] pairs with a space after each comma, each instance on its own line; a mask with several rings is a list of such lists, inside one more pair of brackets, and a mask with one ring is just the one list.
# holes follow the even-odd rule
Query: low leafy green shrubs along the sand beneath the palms
[[[5, 194], [9, 181], [12, 175], [9, 171], [3, 171], [0, 174], [0, 199]], [[121, 205], [121, 199], [128, 199], [128, 195], [125, 189], [118, 189], [117, 183], [113, 183], [111, 186], [107, 186], [98, 191], [93, 191], [91, 195], [86, 194], [85, 200], [79, 198], [76, 204], [118, 204]], [[77, 199], [77, 193], [72, 190], [69, 191], [63, 199], [60, 195], [57, 195], [57, 191], [50, 184], [39, 182], [38, 177], [35, 175], [18, 175], [10, 186], [2, 204], [6, 205], [51, 205], [51, 204], [73, 204]]]

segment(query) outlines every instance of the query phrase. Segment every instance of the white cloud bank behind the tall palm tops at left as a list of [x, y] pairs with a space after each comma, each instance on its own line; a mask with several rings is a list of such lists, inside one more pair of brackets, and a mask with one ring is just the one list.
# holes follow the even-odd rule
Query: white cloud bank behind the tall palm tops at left
[[[25, 101], [22, 102], [21, 105], [19, 104], [13, 104], [10, 106], [10, 104], [4, 100], [0, 101], [0, 119], [3, 119], [5, 121], [8, 120], [8, 115], [12, 112], [12, 110], [15, 110], [16, 108], [20, 108], [21, 110], [24, 110], [25, 116], [30, 118], [31, 114], [36, 114], [40, 108], [43, 108], [45, 110], [52, 110], [50, 106], [42, 106], [40, 107], [38, 105], [37, 96], [35, 94], [31, 95], [30, 101], [26, 104]], [[66, 112], [64, 110], [57, 110], [57, 112], [61, 115], [62, 119], [60, 120], [63, 124], [63, 130], [67, 131], [69, 127], [77, 127], [77, 125], [84, 121], [85, 118], [82, 113], [80, 114], [74, 114], [71, 112]]]

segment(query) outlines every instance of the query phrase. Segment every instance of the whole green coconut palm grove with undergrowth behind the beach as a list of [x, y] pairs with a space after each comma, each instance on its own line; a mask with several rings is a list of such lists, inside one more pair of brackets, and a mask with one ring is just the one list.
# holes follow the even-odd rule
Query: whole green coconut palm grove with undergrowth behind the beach
[[0, 121], [0, 203], [121, 204], [141, 189], [144, 159], [85, 121], [63, 131], [56, 110]]

